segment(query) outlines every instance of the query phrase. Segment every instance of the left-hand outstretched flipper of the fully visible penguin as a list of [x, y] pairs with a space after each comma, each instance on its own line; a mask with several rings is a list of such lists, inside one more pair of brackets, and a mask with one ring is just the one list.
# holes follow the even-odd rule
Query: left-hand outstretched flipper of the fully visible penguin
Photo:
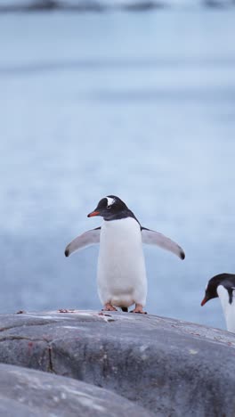
[[73, 252], [76, 252], [76, 250], [84, 249], [87, 246], [100, 243], [100, 234], [101, 227], [96, 227], [96, 229], [88, 230], [85, 233], [79, 234], [79, 236], [77, 236], [77, 238], [75, 238], [73, 241], [70, 241], [69, 245], [67, 245], [65, 248], [65, 256], [69, 257], [69, 255], [71, 255]]

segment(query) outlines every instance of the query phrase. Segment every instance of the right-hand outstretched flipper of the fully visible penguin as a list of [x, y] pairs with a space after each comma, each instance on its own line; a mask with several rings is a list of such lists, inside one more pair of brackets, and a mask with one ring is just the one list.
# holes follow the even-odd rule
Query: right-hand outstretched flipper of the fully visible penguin
[[185, 258], [184, 251], [177, 243], [175, 243], [175, 241], [167, 238], [162, 233], [155, 232], [154, 230], [147, 229], [146, 227], [142, 227], [142, 242], [147, 243], [148, 245], [156, 245], [159, 246], [159, 248], [169, 250], [181, 259]]

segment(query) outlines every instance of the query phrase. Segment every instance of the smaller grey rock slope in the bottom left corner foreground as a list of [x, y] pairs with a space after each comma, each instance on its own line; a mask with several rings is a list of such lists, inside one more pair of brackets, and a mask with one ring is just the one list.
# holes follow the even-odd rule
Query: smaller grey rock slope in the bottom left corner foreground
[[152, 414], [107, 389], [45, 372], [0, 364], [0, 415], [150, 417]]

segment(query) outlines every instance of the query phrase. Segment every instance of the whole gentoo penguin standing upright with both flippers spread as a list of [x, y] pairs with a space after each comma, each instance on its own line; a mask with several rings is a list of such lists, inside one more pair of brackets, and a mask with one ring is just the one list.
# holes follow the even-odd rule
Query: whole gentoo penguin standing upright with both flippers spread
[[97, 268], [98, 293], [103, 310], [116, 311], [135, 305], [144, 314], [147, 279], [142, 243], [157, 245], [184, 259], [182, 248], [161, 233], [142, 227], [125, 202], [115, 195], [101, 199], [87, 217], [101, 216], [100, 227], [77, 236], [65, 249], [69, 257], [77, 249], [100, 243]]

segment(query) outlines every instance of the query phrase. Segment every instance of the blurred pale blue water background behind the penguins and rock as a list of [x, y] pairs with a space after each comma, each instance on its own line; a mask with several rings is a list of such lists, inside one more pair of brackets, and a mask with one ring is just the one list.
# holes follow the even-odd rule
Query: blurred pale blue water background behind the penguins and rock
[[116, 194], [185, 250], [144, 248], [151, 314], [225, 328], [235, 273], [232, 1], [0, 0], [0, 313], [101, 307], [98, 247], [64, 257]]

